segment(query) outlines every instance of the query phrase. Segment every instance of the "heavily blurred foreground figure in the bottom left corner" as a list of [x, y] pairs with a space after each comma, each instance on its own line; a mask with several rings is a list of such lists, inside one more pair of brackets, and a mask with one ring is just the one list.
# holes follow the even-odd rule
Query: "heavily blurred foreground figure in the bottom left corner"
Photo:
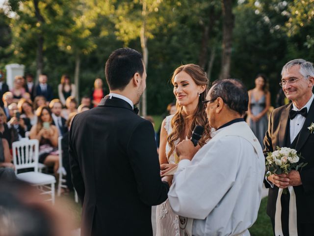
[[0, 181], [0, 236], [70, 236], [72, 224], [60, 209], [35, 187]]

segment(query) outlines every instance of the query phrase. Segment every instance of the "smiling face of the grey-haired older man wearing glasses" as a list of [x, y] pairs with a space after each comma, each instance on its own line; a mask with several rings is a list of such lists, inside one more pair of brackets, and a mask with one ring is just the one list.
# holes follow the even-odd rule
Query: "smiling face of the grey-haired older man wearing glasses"
[[309, 81], [307, 78], [300, 73], [300, 66], [293, 65], [289, 70], [283, 72], [282, 81], [289, 81], [290, 79], [295, 79], [294, 83], [288, 82], [283, 86], [286, 97], [289, 100], [295, 101], [301, 99], [306, 93], [311, 92], [312, 88], [309, 86]]

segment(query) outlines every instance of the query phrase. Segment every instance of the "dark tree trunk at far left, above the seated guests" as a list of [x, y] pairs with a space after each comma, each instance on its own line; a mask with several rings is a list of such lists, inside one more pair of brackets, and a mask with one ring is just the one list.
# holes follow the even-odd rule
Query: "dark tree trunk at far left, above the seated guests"
[[[43, 24], [45, 23], [45, 20], [43, 16], [40, 13], [39, 7], [38, 7], [38, 0], [33, 0], [34, 8], [35, 8], [35, 16], [37, 19], [37, 27], [42, 29]], [[44, 48], [44, 36], [42, 30], [39, 30], [40, 32], [37, 33], [37, 51], [36, 51], [36, 82], [38, 82], [38, 77], [40, 74], [43, 73], [43, 67], [44, 67], [44, 59], [43, 59], [43, 48]]]

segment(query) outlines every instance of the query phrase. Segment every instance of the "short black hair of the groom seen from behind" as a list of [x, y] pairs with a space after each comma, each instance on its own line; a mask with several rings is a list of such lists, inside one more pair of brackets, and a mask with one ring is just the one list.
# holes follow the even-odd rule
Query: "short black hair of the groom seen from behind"
[[105, 76], [110, 90], [123, 90], [136, 72], [143, 76], [143, 56], [131, 48], [113, 51], [105, 64]]

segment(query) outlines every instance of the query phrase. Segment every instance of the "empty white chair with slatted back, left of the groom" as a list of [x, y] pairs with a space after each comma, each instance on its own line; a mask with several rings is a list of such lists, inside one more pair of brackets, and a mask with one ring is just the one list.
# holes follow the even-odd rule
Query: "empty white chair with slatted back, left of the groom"
[[[15, 174], [18, 179], [24, 180], [34, 186], [41, 186], [41, 194], [50, 194], [51, 199], [47, 201], [52, 201], [52, 204], [54, 204], [55, 177], [38, 172], [38, 148], [37, 139], [12, 143]], [[26, 168], [34, 168], [34, 171], [17, 174], [18, 170]]]

